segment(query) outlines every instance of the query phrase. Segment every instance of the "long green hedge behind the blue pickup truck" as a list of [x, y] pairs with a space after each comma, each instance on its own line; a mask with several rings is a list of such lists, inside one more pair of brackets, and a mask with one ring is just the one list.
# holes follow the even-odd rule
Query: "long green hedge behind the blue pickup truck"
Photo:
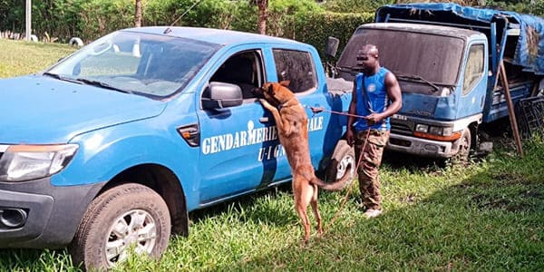
[[[214, 27], [257, 32], [257, 6], [248, 0], [142, 0], [142, 25], [176, 25]], [[0, 27], [19, 25], [24, 29], [24, 5], [16, 0], [0, 0]], [[11, 7], [11, 11], [5, 6]], [[192, 8], [191, 8], [192, 6]], [[17, 16], [15, 16], [17, 15]], [[271, 0], [268, 6], [267, 34], [314, 44], [320, 53], [326, 38], [340, 39], [341, 49], [359, 24], [371, 22], [373, 13], [339, 14], [325, 12], [314, 0]], [[44, 39], [47, 33], [67, 42], [79, 36], [89, 42], [112, 31], [131, 27], [134, 0], [34, 0], [34, 34]], [[21, 25], [22, 24], [22, 25]], [[21, 31], [22, 32], [22, 31]]]

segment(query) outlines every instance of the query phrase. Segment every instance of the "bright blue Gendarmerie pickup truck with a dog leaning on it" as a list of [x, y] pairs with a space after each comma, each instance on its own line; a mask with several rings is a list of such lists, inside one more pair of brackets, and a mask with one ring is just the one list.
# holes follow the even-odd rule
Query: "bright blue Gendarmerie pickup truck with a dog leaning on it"
[[[189, 27], [108, 34], [42, 73], [0, 81], [0, 248], [69, 245], [112, 267], [127, 248], [159, 257], [188, 213], [291, 179], [253, 88], [289, 80], [306, 106], [316, 171], [353, 175], [352, 83], [316, 49]], [[323, 107], [311, 112], [310, 107]]]

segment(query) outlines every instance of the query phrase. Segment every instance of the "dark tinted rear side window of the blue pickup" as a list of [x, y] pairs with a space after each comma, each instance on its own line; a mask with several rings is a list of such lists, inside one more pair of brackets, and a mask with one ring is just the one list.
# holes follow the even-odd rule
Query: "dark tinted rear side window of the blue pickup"
[[278, 81], [289, 81], [292, 92], [306, 92], [317, 86], [315, 64], [310, 53], [274, 49]]

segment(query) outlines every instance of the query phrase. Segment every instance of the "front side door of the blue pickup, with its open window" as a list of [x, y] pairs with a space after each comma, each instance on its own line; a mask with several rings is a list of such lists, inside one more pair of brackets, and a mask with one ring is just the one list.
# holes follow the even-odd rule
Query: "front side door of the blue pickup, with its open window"
[[209, 82], [238, 84], [244, 102], [221, 110], [197, 110], [201, 204], [247, 193], [272, 180], [262, 160], [270, 156], [267, 152], [277, 132], [261, 122], [266, 112], [251, 92], [264, 82], [264, 63], [261, 49], [238, 46], [225, 53], [203, 80], [202, 91]]

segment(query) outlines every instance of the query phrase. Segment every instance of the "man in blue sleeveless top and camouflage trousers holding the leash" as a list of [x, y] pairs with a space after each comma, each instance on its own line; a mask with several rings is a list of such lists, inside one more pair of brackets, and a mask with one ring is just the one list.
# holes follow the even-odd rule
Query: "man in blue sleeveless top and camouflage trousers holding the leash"
[[362, 73], [355, 77], [349, 113], [363, 118], [348, 118], [346, 136], [350, 146], [355, 143], [357, 162], [363, 153], [357, 173], [364, 216], [370, 219], [382, 214], [378, 167], [389, 140], [389, 117], [401, 109], [402, 95], [394, 74], [380, 66], [375, 45], [364, 45], [356, 58]]

